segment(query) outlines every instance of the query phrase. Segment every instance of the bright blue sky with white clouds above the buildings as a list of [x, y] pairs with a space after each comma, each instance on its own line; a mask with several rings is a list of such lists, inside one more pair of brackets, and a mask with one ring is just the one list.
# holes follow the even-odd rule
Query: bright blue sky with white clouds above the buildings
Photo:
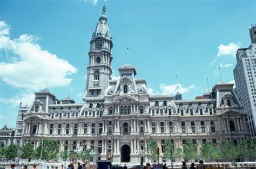
[[194, 99], [233, 81], [235, 51], [248, 47], [256, 1], [0, 0], [0, 124], [15, 128], [18, 105], [46, 86], [57, 98], [82, 102], [89, 41], [102, 7], [113, 38], [112, 69], [137, 67], [152, 94]]

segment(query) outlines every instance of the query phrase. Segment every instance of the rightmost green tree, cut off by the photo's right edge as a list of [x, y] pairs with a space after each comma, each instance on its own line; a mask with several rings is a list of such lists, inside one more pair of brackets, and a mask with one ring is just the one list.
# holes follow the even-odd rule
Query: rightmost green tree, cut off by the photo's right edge
[[250, 156], [256, 157], [256, 139], [246, 139], [240, 142], [240, 152], [242, 156], [248, 158]]

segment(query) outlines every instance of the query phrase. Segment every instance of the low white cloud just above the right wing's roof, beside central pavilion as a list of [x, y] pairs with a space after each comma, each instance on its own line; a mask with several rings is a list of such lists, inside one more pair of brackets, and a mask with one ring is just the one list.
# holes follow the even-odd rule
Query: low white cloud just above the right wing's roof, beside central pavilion
[[195, 88], [195, 85], [191, 85], [189, 87], [183, 87], [180, 83], [178, 84], [178, 88], [176, 84], [173, 85], [165, 85], [164, 83], [162, 83], [160, 85], [160, 90], [161, 90], [161, 94], [162, 95], [174, 95], [176, 94], [178, 91], [179, 93], [183, 94], [183, 93], [187, 93], [188, 91], [190, 91], [191, 89]]

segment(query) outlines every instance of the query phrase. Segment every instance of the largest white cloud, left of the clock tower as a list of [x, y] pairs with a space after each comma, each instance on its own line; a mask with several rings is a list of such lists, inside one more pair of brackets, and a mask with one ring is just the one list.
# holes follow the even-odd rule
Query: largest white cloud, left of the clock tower
[[0, 36], [0, 51], [15, 56], [12, 62], [0, 62], [0, 78], [10, 86], [29, 90], [45, 88], [47, 76], [48, 87], [69, 85], [71, 79], [67, 76], [76, 73], [77, 69], [68, 61], [43, 50], [36, 40], [36, 36], [28, 34], [17, 39], [11, 39], [8, 34]]

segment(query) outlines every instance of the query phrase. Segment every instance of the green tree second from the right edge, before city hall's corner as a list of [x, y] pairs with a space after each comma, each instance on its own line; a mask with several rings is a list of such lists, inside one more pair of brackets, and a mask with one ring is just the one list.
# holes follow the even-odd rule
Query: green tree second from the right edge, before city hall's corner
[[234, 161], [239, 157], [239, 149], [233, 140], [222, 140], [220, 144], [221, 157], [228, 161]]

